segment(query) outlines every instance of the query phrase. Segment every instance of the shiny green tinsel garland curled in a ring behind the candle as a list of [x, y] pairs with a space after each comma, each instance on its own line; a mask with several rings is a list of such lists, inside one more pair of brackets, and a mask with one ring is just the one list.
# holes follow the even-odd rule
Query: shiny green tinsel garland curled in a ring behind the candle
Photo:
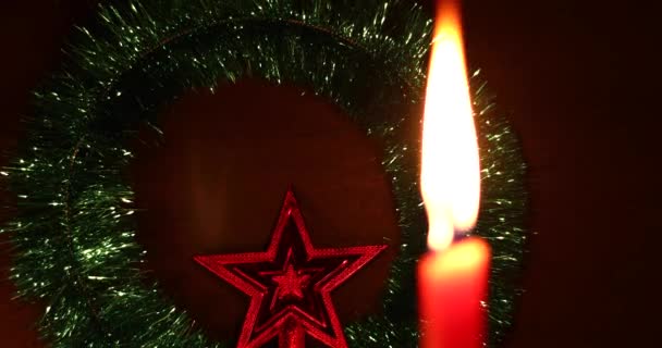
[[[417, 346], [415, 266], [426, 220], [419, 140], [404, 134], [422, 99], [431, 21], [412, 1], [163, 0], [105, 2], [35, 92], [15, 159], [0, 171], [16, 195], [4, 228], [19, 295], [47, 303], [54, 347], [225, 347], [209, 341], [140, 272], [131, 139], [191, 89], [260, 77], [306, 87], [382, 138], [402, 233], [383, 314], [345, 323], [352, 347]], [[523, 257], [524, 165], [516, 137], [471, 78], [483, 196], [475, 234], [493, 248], [489, 338], [510, 325]], [[13, 204], [8, 204], [13, 206]], [[8, 207], [8, 209], [10, 209]]]

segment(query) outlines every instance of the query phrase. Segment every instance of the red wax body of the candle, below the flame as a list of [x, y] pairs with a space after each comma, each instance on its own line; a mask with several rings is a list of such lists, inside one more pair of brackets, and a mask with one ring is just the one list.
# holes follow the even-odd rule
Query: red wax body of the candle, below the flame
[[430, 251], [420, 260], [421, 348], [482, 346], [489, 263], [489, 246], [477, 238]]

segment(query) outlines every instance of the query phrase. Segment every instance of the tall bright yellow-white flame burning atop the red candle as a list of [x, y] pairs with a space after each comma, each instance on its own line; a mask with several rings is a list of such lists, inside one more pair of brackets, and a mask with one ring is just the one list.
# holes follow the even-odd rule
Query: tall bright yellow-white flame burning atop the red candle
[[441, 1], [424, 113], [420, 184], [429, 221], [428, 246], [441, 250], [454, 231], [476, 223], [480, 163], [462, 39], [459, 1]]

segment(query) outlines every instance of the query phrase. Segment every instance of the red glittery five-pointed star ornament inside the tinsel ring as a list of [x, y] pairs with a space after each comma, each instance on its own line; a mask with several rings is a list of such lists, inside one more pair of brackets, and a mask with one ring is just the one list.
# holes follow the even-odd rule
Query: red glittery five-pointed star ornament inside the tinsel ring
[[303, 348], [309, 335], [346, 348], [331, 291], [385, 245], [316, 249], [290, 189], [267, 251], [196, 256], [194, 260], [250, 297], [237, 348]]

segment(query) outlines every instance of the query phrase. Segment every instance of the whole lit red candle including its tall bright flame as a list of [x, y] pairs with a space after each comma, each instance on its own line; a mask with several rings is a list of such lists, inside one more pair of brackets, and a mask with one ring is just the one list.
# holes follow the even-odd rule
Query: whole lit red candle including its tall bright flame
[[441, 1], [424, 114], [421, 194], [430, 252], [419, 263], [422, 348], [481, 346], [490, 251], [477, 238], [452, 245], [478, 215], [480, 163], [462, 40], [459, 3]]

